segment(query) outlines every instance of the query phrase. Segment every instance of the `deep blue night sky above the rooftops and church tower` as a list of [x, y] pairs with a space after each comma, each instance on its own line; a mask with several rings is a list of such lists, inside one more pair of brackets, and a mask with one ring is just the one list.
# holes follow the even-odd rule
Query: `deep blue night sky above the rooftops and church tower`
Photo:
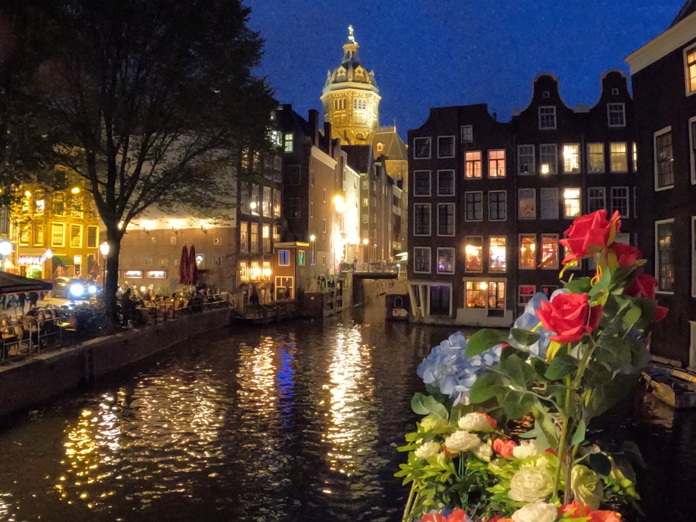
[[[322, 113], [326, 72], [352, 24], [374, 70], [381, 125], [406, 139], [430, 107], [486, 103], [498, 120], [524, 109], [539, 72], [564, 102], [594, 106], [609, 69], [665, 31], [685, 0], [242, 0], [265, 40], [262, 65], [280, 103]], [[493, 8], [494, 6], [494, 8]]]

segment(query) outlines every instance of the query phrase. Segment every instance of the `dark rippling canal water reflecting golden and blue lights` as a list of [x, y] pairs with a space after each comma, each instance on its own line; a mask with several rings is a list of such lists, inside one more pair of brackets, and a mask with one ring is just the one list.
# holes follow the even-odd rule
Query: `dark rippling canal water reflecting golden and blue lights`
[[[453, 329], [382, 307], [215, 333], [3, 421], [0, 520], [400, 521], [416, 365]], [[693, 521], [692, 413], [637, 393], [600, 432], [640, 446], [647, 520]]]

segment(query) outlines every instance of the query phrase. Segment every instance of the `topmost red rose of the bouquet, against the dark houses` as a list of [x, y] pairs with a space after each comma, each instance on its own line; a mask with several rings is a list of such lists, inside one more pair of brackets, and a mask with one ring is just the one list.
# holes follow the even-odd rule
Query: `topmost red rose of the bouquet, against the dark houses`
[[570, 249], [563, 264], [586, 258], [601, 251], [609, 244], [610, 237], [613, 237], [612, 232], [616, 233], [620, 228], [621, 220], [618, 211], [614, 212], [609, 221], [607, 221], [606, 209], [578, 217], [565, 231], [568, 237], [560, 240], [560, 244]]

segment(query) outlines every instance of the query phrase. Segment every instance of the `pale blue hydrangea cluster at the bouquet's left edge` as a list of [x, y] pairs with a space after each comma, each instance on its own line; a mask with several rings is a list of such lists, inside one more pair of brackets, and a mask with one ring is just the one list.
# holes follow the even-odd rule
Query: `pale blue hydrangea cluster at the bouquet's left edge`
[[454, 404], [469, 404], [470, 389], [477, 375], [500, 361], [502, 349], [498, 345], [480, 355], [467, 357], [466, 337], [458, 331], [433, 347], [429, 356], [418, 365], [418, 377], [426, 384], [436, 386], [443, 395], [451, 397]]

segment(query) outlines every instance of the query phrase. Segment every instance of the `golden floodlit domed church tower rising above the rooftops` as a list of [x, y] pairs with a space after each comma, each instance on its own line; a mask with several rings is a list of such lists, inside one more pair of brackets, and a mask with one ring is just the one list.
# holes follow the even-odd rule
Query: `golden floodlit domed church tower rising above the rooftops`
[[374, 71], [367, 72], [358, 58], [353, 26], [343, 45], [343, 61], [326, 73], [322, 93], [324, 121], [331, 122], [332, 137], [347, 145], [369, 145], [379, 127], [379, 89]]

